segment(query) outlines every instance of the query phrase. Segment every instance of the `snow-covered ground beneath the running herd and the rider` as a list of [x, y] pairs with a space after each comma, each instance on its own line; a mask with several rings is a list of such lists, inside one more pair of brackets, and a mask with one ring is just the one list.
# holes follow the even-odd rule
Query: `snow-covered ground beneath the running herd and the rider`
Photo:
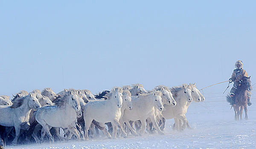
[[[205, 95], [204, 103], [192, 103], [186, 114], [195, 129], [183, 132], [172, 130], [174, 120], [167, 120], [165, 135], [145, 135], [143, 137], [107, 139], [98, 138], [89, 141], [67, 141], [52, 144], [30, 144], [7, 146], [7, 149], [255, 149], [256, 148], [256, 100], [248, 109], [249, 120], [234, 120], [222, 93]], [[244, 117], [244, 115], [243, 115]]]

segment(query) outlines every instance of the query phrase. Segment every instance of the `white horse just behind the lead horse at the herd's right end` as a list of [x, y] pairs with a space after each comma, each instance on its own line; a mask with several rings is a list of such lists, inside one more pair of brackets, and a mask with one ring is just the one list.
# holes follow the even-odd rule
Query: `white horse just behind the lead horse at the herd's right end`
[[[183, 122], [186, 124], [187, 120], [185, 114], [187, 112], [187, 104], [191, 103], [193, 100], [191, 90], [189, 89], [189, 86], [183, 84], [178, 87], [172, 87], [171, 92], [177, 102], [177, 105], [173, 107], [164, 104], [164, 110], [162, 112], [162, 115], [165, 119], [177, 118], [183, 120]], [[176, 120], [175, 123], [175, 128], [177, 130], [180, 130], [181, 126], [178, 124], [178, 122], [176, 122]]]

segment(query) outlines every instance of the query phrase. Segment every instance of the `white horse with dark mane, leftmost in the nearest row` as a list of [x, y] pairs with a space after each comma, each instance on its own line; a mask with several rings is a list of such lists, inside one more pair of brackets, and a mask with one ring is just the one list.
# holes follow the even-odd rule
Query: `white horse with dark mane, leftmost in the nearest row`
[[14, 126], [15, 139], [13, 143], [16, 144], [20, 136], [20, 127], [29, 125], [29, 113], [31, 109], [37, 110], [41, 105], [38, 99], [30, 93], [20, 99], [16, 99], [12, 106], [0, 106], [0, 125]]

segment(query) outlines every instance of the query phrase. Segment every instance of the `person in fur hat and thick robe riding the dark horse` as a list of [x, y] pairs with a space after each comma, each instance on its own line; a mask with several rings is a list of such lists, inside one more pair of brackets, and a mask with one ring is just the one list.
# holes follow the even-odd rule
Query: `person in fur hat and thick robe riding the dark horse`
[[[236, 93], [236, 89], [238, 89], [241, 86], [241, 81], [243, 79], [243, 77], [248, 77], [247, 72], [242, 69], [243, 67], [243, 63], [241, 60], [236, 61], [236, 69], [233, 71], [233, 74], [231, 76], [231, 78], [229, 79], [229, 83], [234, 82], [234, 85], [232, 87], [232, 89], [230, 90], [230, 97], [232, 99], [232, 102], [230, 103], [230, 105], [235, 104], [235, 93]], [[252, 105], [252, 103], [250, 102], [250, 96], [252, 95], [251, 92], [247, 92], [247, 104], [248, 106]]]

